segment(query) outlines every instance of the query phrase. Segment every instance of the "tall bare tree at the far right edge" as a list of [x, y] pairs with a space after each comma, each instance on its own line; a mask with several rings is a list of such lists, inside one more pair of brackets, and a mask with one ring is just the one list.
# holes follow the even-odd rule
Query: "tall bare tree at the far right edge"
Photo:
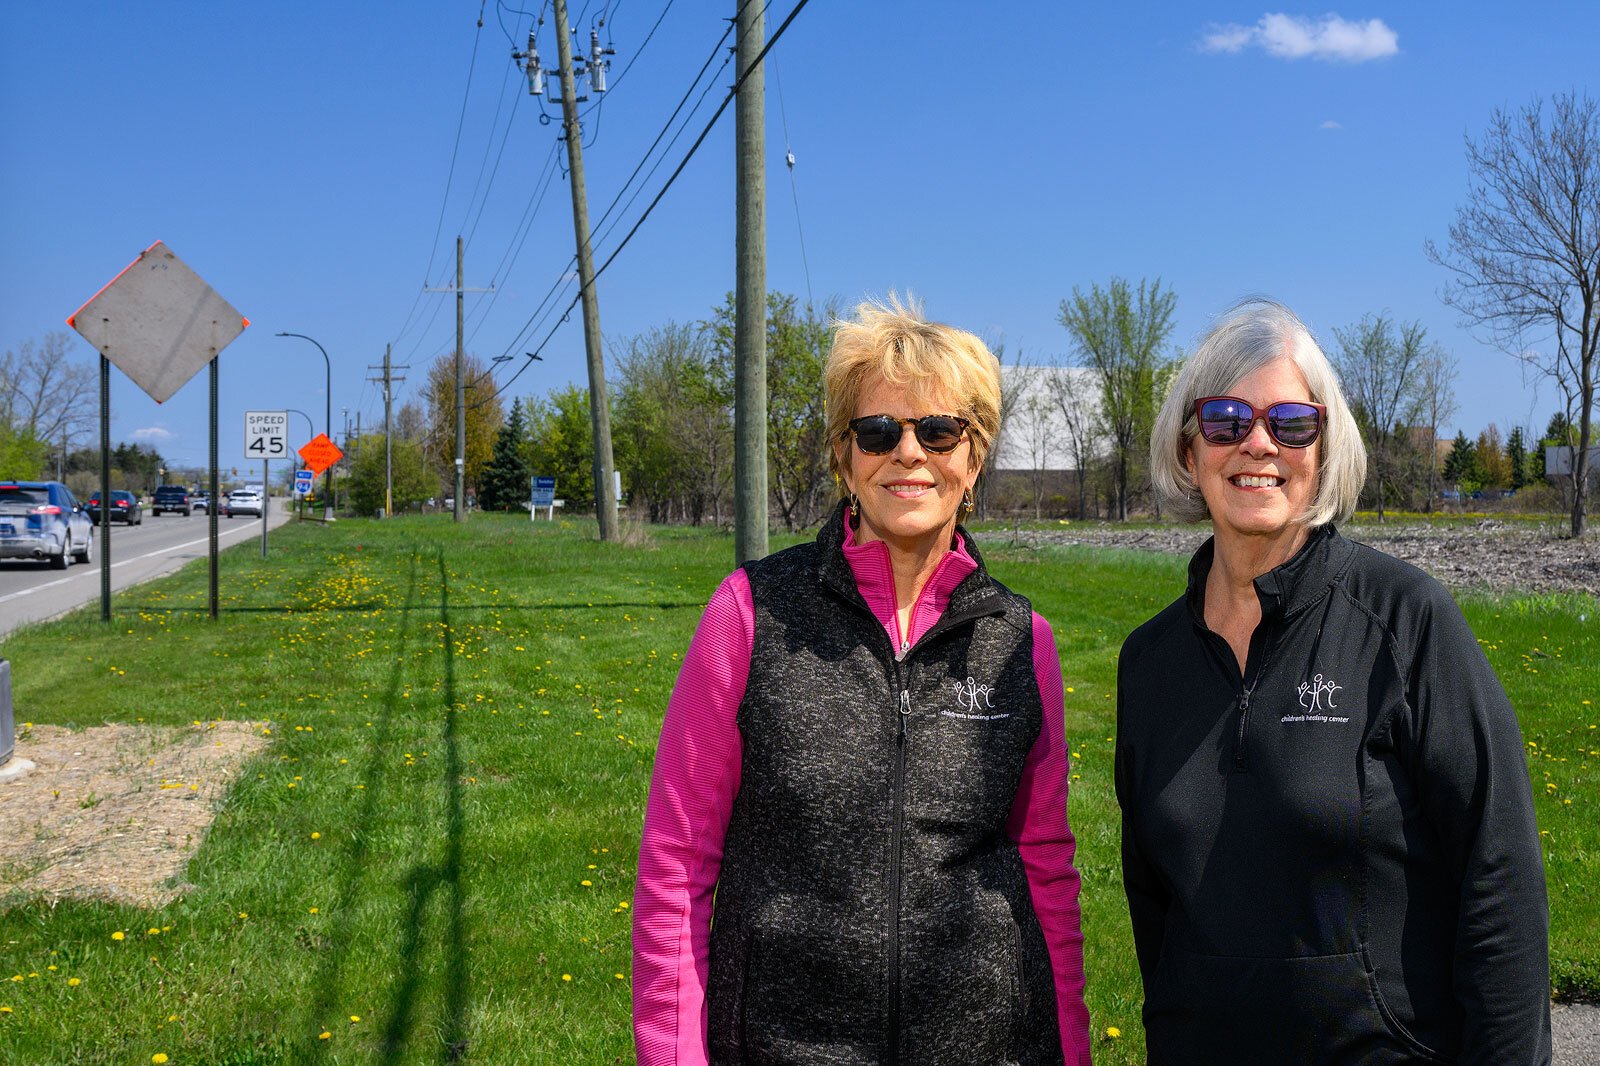
[[1565, 397], [1578, 426], [1571, 531], [1582, 536], [1600, 336], [1600, 107], [1568, 93], [1549, 115], [1538, 99], [1496, 109], [1488, 133], [1467, 138], [1467, 171], [1450, 240], [1429, 242], [1427, 256], [1453, 275], [1445, 303]]

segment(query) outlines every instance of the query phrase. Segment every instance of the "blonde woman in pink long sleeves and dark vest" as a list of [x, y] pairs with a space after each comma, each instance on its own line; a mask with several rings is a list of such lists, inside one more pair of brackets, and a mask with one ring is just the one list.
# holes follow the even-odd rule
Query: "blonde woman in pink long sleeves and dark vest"
[[638, 1061], [1083, 1066], [1061, 666], [958, 525], [998, 363], [862, 304], [824, 389], [842, 499], [722, 583], [667, 704]]

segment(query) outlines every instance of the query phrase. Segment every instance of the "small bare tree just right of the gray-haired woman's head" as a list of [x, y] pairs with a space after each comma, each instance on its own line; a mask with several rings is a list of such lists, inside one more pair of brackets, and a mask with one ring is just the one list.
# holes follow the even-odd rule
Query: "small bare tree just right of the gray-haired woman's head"
[[1334, 368], [1350, 400], [1355, 423], [1366, 437], [1368, 477], [1378, 485], [1378, 520], [1395, 467], [1395, 431], [1421, 408], [1416, 365], [1424, 355], [1427, 330], [1411, 322], [1398, 331], [1384, 315], [1366, 315], [1349, 330], [1334, 330], [1339, 352]]

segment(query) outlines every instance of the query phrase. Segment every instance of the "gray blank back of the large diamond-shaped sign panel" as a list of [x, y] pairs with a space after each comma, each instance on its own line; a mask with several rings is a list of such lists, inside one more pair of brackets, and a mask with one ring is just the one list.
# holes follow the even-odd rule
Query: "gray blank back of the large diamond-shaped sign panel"
[[157, 240], [74, 311], [67, 325], [165, 403], [250, 320]]

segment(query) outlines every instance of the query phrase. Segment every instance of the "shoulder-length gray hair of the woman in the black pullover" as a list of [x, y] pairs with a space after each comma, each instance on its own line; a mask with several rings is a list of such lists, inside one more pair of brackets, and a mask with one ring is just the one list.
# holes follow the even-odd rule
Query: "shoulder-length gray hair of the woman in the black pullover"
[[1200, 338], [1155, 416], [1150, 432], [1150, 480], [1162, 501], [1179, 519], [1208, 519], [1200, 487], [1189, 474], [1189, 448], [1198, 435], [1195, 400], [1226, 395], [1242, 378], [1275, 359], [1288, 357], [1306, 376], [1310, 399], [1328, 408], [1322, 429], [1322, 464], [1317, 498], [1294, 517], [1307, 527], [1346, 522], [1366, 482], [1366, 447], [1344, 402], [1339, 378], [1310, 330], [1283, 304], [1264, 296], [1243, 299], [1218, 317]]

